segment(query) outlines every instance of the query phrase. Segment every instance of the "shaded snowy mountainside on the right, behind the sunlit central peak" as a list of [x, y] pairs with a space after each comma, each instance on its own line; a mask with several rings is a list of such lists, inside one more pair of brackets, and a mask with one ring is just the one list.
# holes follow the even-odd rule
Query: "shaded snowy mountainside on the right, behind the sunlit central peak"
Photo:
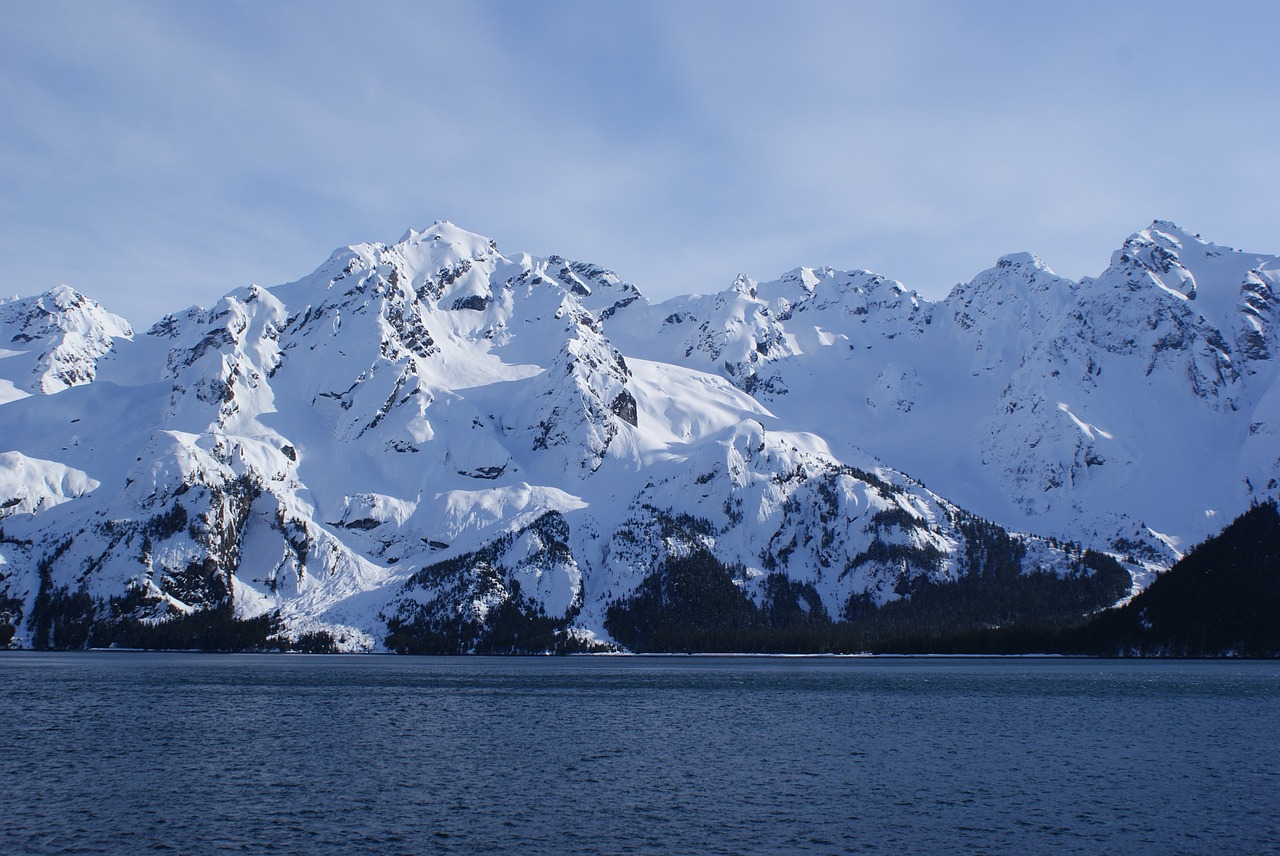
[[742, 281], [609, 334], [1019, 530], [1167, 564], [1275, 495], [1274, 256], [1157, 221], [1082, 283], [1027, 253], [936, 303], [863, 271]]

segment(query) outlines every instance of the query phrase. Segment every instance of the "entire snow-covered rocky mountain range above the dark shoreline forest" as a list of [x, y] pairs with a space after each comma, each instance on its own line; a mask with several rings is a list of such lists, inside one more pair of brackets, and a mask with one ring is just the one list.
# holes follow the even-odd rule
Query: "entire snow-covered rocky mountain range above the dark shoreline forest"
[[1277, 287], [1276, 257], [1158, 221], [1097, 279], [1006, 256], [936, 303], [799, 269], [652, 305], [448, 223], [145, 334], [60, 287], [0, 305], [0, 626], [588, 644], [690, 557], [838, 619], [997, 543], [1140, 586], [1276, 494]]

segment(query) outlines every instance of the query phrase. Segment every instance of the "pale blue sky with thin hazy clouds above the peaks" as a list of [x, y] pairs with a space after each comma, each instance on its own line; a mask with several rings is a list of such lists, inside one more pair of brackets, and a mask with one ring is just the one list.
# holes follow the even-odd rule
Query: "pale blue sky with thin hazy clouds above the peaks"
[[1152, 219], [1280, 252], [1280, 4], [0, 0], [0, 293], [136, 325], [436, 219], [650, 298]]

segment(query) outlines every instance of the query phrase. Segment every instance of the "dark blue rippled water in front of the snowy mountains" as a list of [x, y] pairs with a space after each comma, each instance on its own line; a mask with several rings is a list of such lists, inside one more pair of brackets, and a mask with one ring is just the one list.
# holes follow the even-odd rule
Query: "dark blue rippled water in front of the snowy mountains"
[[1280, 852], [1280, 665], [0, 655], [0, 852]]

